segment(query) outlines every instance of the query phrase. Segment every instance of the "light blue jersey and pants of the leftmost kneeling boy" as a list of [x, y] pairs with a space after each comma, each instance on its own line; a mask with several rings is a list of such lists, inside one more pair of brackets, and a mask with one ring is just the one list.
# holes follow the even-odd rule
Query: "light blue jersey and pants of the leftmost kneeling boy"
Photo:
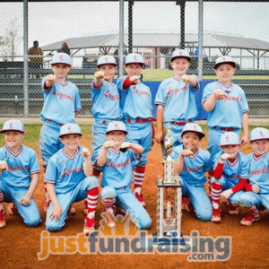
[[30, 175], [39, 173], [39, 161], [36, 152], [22, 145], [19, 152], [14, 153], [8, 145], [0, 149], [0, 161], [6, 161], [8, 170], [2, 171], [0, 176], [0, 193], [4, 194], [4, 202], [14, 203], [23, 221], [28, 226], [39, 225], [41, 219], [39, 209], [34, 199], [30, 205], [20, 203], [30, 187]]

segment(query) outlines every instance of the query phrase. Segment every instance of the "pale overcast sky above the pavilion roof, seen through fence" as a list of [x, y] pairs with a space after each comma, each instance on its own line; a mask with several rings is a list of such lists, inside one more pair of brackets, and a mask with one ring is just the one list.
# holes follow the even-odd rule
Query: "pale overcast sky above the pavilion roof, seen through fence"
[[[29, 3], [29, 47], [63, 39], [118, 32], [118, 2]], [[125, 28], [127, 30], [125, 3]], [[175, 2], [134, 2], [134, 30], [179, 32], [180, 6]], [[204, 32], [237, 35], [269, 42], [269, 3], [204, 3]], [[23, 4], [0, 3], [0, 36], [12, 18], [23, 35]], [[198, 32], [198, 2], [186, 4], [186, 32]]]

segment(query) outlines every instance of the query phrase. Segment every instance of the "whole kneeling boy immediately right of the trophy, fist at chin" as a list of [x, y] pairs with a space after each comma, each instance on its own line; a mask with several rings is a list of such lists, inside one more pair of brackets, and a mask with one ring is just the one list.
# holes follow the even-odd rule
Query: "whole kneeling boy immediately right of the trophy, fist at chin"
[[204, 137], [201, 126], [188, 123], [181, 133], [183, 144], [174, 147], [171, 158], [175, 161], [175, 175], [182, 182], [182, 206], [190, 212], [193, 204], [200, 221], [210, 221], [212, 206], [204, 189], [206, 178], [204, 172], [212, 169], [210, 153], [198, 147]]

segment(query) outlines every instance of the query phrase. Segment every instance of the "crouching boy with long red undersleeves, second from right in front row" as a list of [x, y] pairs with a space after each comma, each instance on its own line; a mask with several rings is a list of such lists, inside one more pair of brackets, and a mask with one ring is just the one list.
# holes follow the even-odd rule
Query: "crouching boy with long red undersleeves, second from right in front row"
[[221, 135], [221, 152], [213, 157], [211, 179], [212, 221], [221, 222], [221, 196], [229, 206], [230, 214], [239, 213], [239, 196], [247, 186], [249, 161], [240, 150], [239, 135], [226, 132]]

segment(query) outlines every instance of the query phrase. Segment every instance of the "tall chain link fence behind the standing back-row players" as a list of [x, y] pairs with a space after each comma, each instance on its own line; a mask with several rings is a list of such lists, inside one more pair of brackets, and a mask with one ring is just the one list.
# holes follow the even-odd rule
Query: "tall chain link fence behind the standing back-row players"
[[[269, 3], [206, 1], [203, 7], [203, 80], [216, 80], [217, 56], [233, 56], [238, 63], [233, 82], [247, 94], [249, 116], [268, 117]], [[39, 41], [43, 56], [29, 56], [27, 87], [23, 3], [1, 2], [0, 15], [0, 116], [25, 116], [27, 104], [28, 115], [39, 117], [41, 79], [52, 73], [51, 57], [64, 49], [73, 63], [67, 78], [77, 85], [82, 99], [79, 117], [91, 117], [97, 59], [104, 54], [119, 59], [119, 1], [28, 3], [28, 48]], [[173, 74], [173, 51], [186, 48], [192, 56], [188, 73], [198, 74], [198, 16], [198, 2], [125, 1], [123, 55], [142, 54], [143, 80], [161, 82]]]

